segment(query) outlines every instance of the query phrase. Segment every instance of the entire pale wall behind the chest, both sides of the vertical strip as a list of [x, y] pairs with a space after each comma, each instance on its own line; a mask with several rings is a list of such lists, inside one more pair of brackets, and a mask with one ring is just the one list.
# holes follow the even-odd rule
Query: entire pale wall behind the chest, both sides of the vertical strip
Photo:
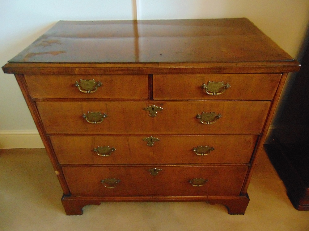
[[[0, 65], [58, 20], [133, 19], [135, 2], [138, 19], [246, 17], [292, 57], [301, 56], [309, 22], [308, 0], [1, 0]], [[0, 80], [0, 148], [40, 147], [27, 140], [36, 128], [14, 76], [0, 71]]]

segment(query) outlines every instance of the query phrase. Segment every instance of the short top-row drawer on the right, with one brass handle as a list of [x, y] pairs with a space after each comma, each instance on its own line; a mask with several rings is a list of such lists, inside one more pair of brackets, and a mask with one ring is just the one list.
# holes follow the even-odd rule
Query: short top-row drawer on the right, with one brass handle
[[[271, 100], [281, 74], [153, 75], [154, 99]], [[208, 82], [223, 82], [223, 84]], [[205, 87], [202, 85], [205, 83]], [[226, 84], [228, 88], [225, 88]], [[207, 90], [207, 92], [206, 92]], [[211, 95], [218, 92], [217, 95]]]

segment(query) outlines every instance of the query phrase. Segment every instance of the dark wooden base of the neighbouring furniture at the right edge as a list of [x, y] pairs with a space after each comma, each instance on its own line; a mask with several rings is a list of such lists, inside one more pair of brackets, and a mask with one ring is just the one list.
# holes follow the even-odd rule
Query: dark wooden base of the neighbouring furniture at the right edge
[[273, 144], [265, 144], [264, 147], [269, 160], [286, 186], [287, 196], [295, 209], [309, 211], [309, 204], [299, 203], [299, 199], [306, 194], [303, 180], [287, 158], [280, 141], [276, 138], [273, 141]]

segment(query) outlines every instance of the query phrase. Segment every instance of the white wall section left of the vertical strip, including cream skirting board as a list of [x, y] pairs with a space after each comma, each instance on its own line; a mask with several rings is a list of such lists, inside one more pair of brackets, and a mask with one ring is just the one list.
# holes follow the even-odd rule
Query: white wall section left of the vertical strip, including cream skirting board
[[[131, 0], [1, 0], [0, 66], [59, 20], [121, 19], [132, 19]], [[43, 147], [14, 75], [0, 81], [0, 148]]]

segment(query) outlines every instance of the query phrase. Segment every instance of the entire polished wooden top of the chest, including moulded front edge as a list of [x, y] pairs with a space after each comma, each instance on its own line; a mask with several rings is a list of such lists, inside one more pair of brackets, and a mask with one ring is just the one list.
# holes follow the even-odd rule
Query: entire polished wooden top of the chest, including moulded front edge
[[247, 18], [59, 21], [2, 67], [22, 74], [204, 74], [299, 70]]

